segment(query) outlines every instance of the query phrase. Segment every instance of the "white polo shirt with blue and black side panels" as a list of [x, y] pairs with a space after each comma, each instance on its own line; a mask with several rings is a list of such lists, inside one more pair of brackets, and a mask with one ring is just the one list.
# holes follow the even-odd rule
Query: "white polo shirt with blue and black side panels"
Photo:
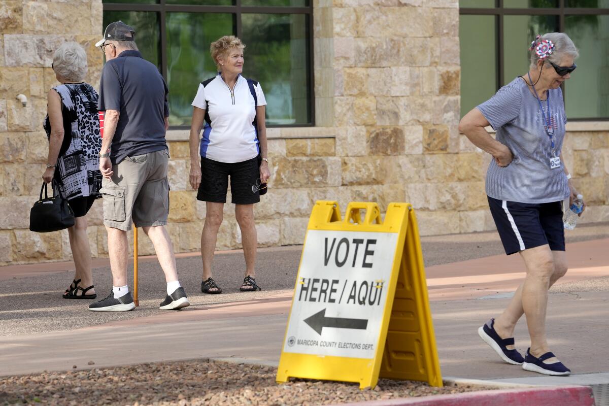
[[[203, 158], [223, 163], [247, 161], [258, 156], [258, 138], [252, 122], [256, 105], [266, 105], [259, 83], [254, 90], [258, 104], [250, 92], [247, 79], [239, 75], [231, 92], [222, 76], [200, 83], [192, 105], [205, 112], [209, 124], [203, 129], [200, 153]], [[258, 117], [264, 120], [264, 117]]]

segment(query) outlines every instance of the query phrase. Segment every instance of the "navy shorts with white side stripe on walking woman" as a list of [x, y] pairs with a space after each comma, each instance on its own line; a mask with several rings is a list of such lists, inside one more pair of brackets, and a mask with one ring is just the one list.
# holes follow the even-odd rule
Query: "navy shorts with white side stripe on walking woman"
[[546, 244], [552, 251], [565, 251], [562, 201], [518, 203], [488, 197], [488, 205], [506, 254]]

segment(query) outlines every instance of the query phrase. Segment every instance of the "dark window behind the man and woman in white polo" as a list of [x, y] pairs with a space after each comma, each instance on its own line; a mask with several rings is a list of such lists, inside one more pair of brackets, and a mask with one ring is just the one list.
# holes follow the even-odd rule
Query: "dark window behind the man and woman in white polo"
[[261, 83], [269, 127], [313, 125], [311, 1], [104, 0], [104, 27], [135, 29], [169, 85], [172, 128], [190, 127], [199, 83], [216, 74], [209, 44], [222, 35], [244, 42], [244, 76]]

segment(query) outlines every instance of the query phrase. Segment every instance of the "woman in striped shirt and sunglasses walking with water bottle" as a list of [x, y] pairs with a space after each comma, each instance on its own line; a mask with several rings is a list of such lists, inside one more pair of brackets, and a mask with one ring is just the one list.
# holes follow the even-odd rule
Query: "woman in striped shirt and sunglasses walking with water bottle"
[[[547, 290], [567, 271], [563, 200], [577, 190], [563, 162], [565, 104], [560, 89], [576, 68], [576, 46], [565, 33], [538, 35], [530, 69], [466, 114], [459, 124], [474, 145], [494, 159], [486, 192], [506, 254], [519, 253], [527, 269], [509, 306], [478, 334], [501, 359], [541, 374], [571, 373], [546, 340]], [[485, 127], [496, 131], [493, 139]], [[531, 339], [523, 357], [514, 347], [516, 322], [526, 314]]]

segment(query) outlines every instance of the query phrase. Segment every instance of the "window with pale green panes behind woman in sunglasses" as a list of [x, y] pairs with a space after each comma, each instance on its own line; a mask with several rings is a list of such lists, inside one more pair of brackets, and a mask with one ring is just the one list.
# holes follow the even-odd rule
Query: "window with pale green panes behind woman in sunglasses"
[[529, 70], [530, 42], [565, 32], [579, 49], [565, 82], [573, 120], [609, 120], [609, 0], [460, 0], [461, 116]]

